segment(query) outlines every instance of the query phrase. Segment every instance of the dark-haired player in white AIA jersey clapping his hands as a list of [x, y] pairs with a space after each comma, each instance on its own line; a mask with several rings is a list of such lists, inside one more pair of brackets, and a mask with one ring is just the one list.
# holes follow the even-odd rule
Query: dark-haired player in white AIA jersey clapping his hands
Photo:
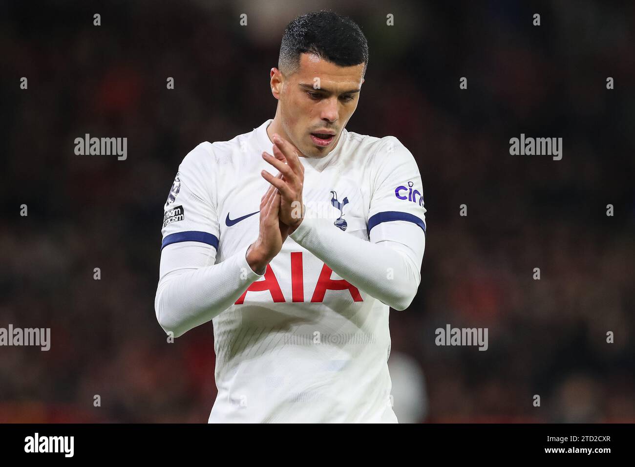
[[178, 168], [156, 316], [175, 337], [212, 320], [210, 423], [397, 421], [389, 307], [417, 292], [425, 208], [398, 139], [345, 130], [367, 65], [350, 18], [295, 18], [271, 69], [274, 118]]

